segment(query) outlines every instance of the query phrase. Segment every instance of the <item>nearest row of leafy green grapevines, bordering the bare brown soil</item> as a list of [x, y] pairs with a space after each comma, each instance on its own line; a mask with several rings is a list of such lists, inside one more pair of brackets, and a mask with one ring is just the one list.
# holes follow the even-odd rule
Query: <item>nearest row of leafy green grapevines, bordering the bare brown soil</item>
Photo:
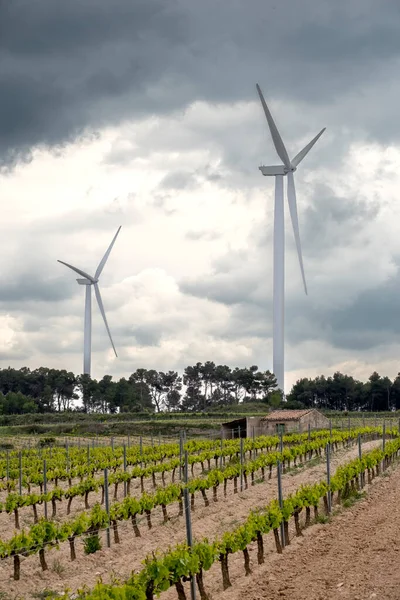
[[216, 563], [220, 563], [223, 588], [227, 589], [232, 584], [229, 574], [229, 555], [242, 552], [244, 559], [245, 574], [249, 575], [250, 557], [248, 546], [257, 542], [257, 562], [264, 562], [263, 536], [273, 532], [277, 552], [282, 552], [279, 539], [279, 527], [281, 523], [286, 531], [285, 538], [290, 543], [288, 536], [289, 520], [295, 521], [296, 535], [301, 535], [299, 522], [300, 513], [305, 510], [305, 526], [311, 524], [311, 510], [318, 516], [319, 504], [324, 502], [325, 510], [328, 512], [328, 493], [333, 499], [334, 494], [337, 501], [341, 502], [352, 489], [358, 489], [359, 477], [365, 477], [368, 473], [368, 482], [372, 477], [378, 475], [381, 464], [388, 466], [395, 457], [399, 455], [400, 439], [386, 444], [385, 450], [375, 449], [365, 454], [361, 459], [350, 461], [347, 465], [340, 467], [328, 485], [321, 481], [314, 485], [301, 487], [296, 493], [288, 496], [280, 508], [277, 500], [273, 500], [263, 510], [252, 511], [247, 520], [233, 531], [226, 532], [222, 537], [213, 542], [204, 539], [196, 542], [192, 548], [186, 544], [179, 544], [164, 554], [154, 554], [144, 561], [144, 568], [139, 573], [131, 575], [124, 585], [107, 585], [97, 583], [95, 588], [81, 590], [78, 598], [80, 600], [153, 600], [155, 596], [175, 586], [178, 598], [185, 600], [186, 595], [183, 582], [195, 577], [201, 600], [209, 600], [203, 574], [204, 571]]

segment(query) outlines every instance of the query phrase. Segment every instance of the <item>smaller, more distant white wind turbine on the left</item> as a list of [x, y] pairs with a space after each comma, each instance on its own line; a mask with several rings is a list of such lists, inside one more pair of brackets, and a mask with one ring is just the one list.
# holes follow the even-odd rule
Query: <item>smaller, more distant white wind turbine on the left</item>
[[107, 252], [99, 262], [99, 266], [96, 269], [94, 276], [92, 277], [85, 271], [78, 269], [68, 263], [65, 263], [62, 260], [58, 262], [65, 265], [69, 269], [81, 275], [83, 279], [77, 279], [79, 285], [86, 286], [86, 295], [85, 295], [85, 333], [84, 333], [84, 342], [83, 342], [83, 372], [87, 375], [90, 375], [90, 365], [91, 365], [91, 354], [92, 354], [92, 286], [94, 287], [94, 292], [96, 294], [97, 304], [99, 305], [99, 309], [101, 312], [101, 316], [103, 317], [104, 325], [106, 326], [108, 337], [110, 338], [111, 345], [115, 352], [115, 356], [117, 356], [117, 351], [115, 350], [114, 342], [112, 341], [110, 328], [108, 327], [106, 313], [104, 312], [103, 301], [101, 299], [100, 288], [99, 288], [99, 277], [105, 267], [108, 257], [110, 256], [110, 252], [112, 247], [114, 246], [115, 240], [117, 239], [117, 235], [121, 226], [118, 227], [118, 231], [115, 234], [111, 244], [109, 245]]

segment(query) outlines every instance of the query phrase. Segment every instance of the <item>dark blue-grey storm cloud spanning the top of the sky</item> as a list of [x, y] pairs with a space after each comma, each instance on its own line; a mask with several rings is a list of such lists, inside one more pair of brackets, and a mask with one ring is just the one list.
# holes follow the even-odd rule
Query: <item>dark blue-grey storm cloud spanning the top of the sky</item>
[[372, 0], [3, 0], [0, 157], [198, 99], [254, 99], [258, 80], [275, 98], [318, 104], [375, 78], [376, 112], [399, 57], [399, 16], [396, 3]]

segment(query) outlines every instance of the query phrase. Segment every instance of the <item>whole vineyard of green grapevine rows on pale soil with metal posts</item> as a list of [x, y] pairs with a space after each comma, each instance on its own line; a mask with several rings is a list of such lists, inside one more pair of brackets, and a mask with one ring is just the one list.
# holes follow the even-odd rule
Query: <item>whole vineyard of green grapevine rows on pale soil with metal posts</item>
[[281, 554], [283, 543], [371, 483], [399, 451], [397, 429], [361, 427], [196, 440], [183, 448], [2, 452], [2, 597], [33, 598], [47, 590], [48, 597], [69, 598], [81, 590], [88, 600], [148, 600], [160, 593], [183, 600], [193, 578], [197, 595], [207, 599], [249, 576], [272, 550]]

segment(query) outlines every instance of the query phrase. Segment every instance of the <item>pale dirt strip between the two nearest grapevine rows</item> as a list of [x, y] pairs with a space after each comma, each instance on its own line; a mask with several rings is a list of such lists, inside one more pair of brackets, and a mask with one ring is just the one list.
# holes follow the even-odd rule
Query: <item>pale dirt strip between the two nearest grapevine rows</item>
[[[363, 444], [363, 452], [371, 450], [381, 444], [380, 440]], [[358, 455], [357, 446], [349, 449], [341, 449], [332, 456], [331, 469], [335, 471], [337, 466], [355, 458]], [[320, 481], [326, 473], [326, 464], [322, 462], [314, 466], [305, 467], [299, 471], [291, 471], [283, 477], [283, 491], [287, 495], [294, 492], [301, 484]], [[249, 482], [250, 484], [250, 482]], [[192, 514], [193, 535], [195, 539], [208, 537], [215, 538], [224, 531], [233, 529], [245, 520], [251, 509], [265, 506], [271, 499], [277, 497], [276, 477], [265, 483], [250, 486], [243, 492], [233, 494], [233, 484], [228, 484], [227, 498], [223, 497], [223, 491], [218, 491], [218, 502], [212, 502], [211, 492], [207, 492], [210, 506], [205, 507], [200, 494], [196, 494], [196, 510]], [[68, 544], [61, 544], [60, 550], [46, 551], [49, 570], [42, 572], [37, 555], [23, 559], [21, 562], [21, 580], [14, 582], [12, 575], [12, 562], [6, 559], [0, 562], [0, 592], [8, 594], [4, 598], [16, 598], [17, 590], [21, 598], [33, 598], [34, 594], [44, 589], [63, 591], [66, 587], [75, 591], [87, 585], [92, 587], [101, 576], [103, 581], [110, 581], [111, 577], [126, 579], [133, 569], [141, 567], [141, 561], [151, 551], [165, 550], [169, 546], [185, 540], [184, 519], [178, 518], [177, 504], [168, 508], [170, 521], [162, 524], [160, 511], [152, 511], [153, 528], [148, 530], [144, 521], [140, 523], [141, 537], [134, 536], [130, 522], [119, 525], [120, 544], [114, 544], [111, 548], [105, 544], [103, 535], [103, 549], [96, 554], [86, 556], [83, 552], [82, 542], [77, 545], [77, 560], [71, 562], [69, 558]], [[111, 536], [112, 539], [112, 536]], [[272, 552], [272, 550], [271, 550]], [[233, 557], [232, 557], [233, 559]], [[235, 559], [236, 560], [236, 559]], [[239, 570], [240, 569], [240, 570]], [[241, 573], [242, 566], [237, 566]], [[212, 568], [215, 577], [220, 579], [218, 566]], [[207, 574], [207, 577], [212, 573]], [[218, 596], [222, 589], [219, 590]], [[176, 597], [174, 590], [166, 594], [171, 598]], [[164, 597], [164, 595], [163, 595]], [[229, 598], [229, 595], [226, 596]], [[255, 596], [257, 597], [257, 596]], [[400, 596], [399, 596], [400, 597]]]

